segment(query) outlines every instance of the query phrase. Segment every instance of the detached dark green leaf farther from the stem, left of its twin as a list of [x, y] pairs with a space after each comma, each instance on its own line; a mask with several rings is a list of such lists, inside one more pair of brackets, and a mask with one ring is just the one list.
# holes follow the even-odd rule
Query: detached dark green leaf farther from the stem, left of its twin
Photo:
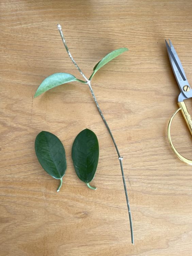
[[63, 144], [54, 134], [42, 131], [35, 139], [35, 153], [43, 169], [53, 178], [60, 179], [59, 192], [67, 169]]

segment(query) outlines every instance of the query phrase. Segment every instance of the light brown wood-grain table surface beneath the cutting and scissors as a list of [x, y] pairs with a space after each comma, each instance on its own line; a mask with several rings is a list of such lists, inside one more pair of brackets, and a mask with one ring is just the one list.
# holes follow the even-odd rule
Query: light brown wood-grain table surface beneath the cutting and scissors
[[[192, 255], [192, 167], [167, 141], [179, 89], [164, 41], [171, 38], [192, 82], [191, 13], [190, 0], [1, 0], [1, 256]], [[33, 98], [53, 73], [82, 79], [57, 23], [87, 76], [108, 52], [129, 48], [97, 72], [92, 87], [124, 157], [135, 245], [119, 161], [89, 88], [71, 82]], [[71, 161], [72, 143], [85, 128], [100, 145], [96, 191], [77, 178]], [[35, 155], [42, 130], [65, 146], [67, 171], [59, 193], [58, 180]], [[180, 113], [171, 132], [179, 152], [192, 158]]]

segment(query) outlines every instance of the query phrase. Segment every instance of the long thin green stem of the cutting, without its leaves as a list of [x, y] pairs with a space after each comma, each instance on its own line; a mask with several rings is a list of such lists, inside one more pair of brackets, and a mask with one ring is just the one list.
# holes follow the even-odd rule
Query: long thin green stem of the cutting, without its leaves
[[[91, 87], [91, 81], [89, 79], [87, 79], [87, 77], [83, 74], [83, 72], [81, 71], [81, 69], [79, 68], [79, 66], [77, 65], [77, 63], [75, 62], [75, 60], [73, 59], [73, 57], [71, 56], [70, 52], [69, 52], [69, 49], [67, 47], [67, 44], [65, 42], [65, 39], [64, 39], [64, 36], [63, 36], [63, 32], [62, 32], [62, 28], [61, 28], [61, 25], [58, 25], [58, 29], [59, 29], [59, 32], [60, 32], [60, 35], [61, 35], [61, 38], [63, 40], [63, 44], [65, 46], [65, 49], [71, 59], [71, 61], [73, 61], [74, 65], [76, 66], [76, 68], [79, 70], [80, 74], [83, 76], [83, 78], [86, 80], [87, 84], [89, 85], [89, 89], [91, 91], [91, 94], [93, 96], [93, 99], [95, 101], [95, 104], [97, 106], [97, 109], [99, 111], [99, 114], [100, 116], [102, 117], [103, 119], [103, 122], [105, 123], [106, 127], [107, 127], [107, 130], [109, 131], [109, 134], [111, 136], [111, 139], [113, 141], [113, 144], [115, 146], [115, 149], [117, 151], [117, 155], [118, 155], [118, 160], [119, 160], [119, 163], [120, 163], [120, 166], [121, 166], [121, 173], [122, 173], [122, 178], [123, 178], [123, 185], [124, 185], [124, 190], [125, 190], [125, 196], [126, 196], [126, 201], [127, 201], [127, 208], [128, 208], [128, 213], [129, 213], [129, 222], [130, 222], [130, 230], [131, 230], [131, 242], [132, 244], [134, 244], [134, 236], [133, 236], [133, 225], [132, 225], [132, 219], [131, 219], [131, 210], [130, 210], [130, 205], [129, 205], [129, 199], [128, 199], [128, 194], [127, 194], [127, 187], [126, 187], [126, 182], [125, 182], [125, 177], [124, 177], [124, 171], [123, 171], [123, 164], [122, 164], [122, 160], [123, 160], [123, 157], [120, 155], [119, 153], [119, 150], [118, 150], [118, 147], [117, 147], [117, 144], [115, 143], [115, 140], [114, 140], [114, 137], [113, 137], [113, 134], [107, 124], [107, 121], [105, 119], [105, 117], [103, 116], [102, 114], [102, 111], [98, 105], [98, 102], [97, 102], [97, 99], [95, 97], [95, 94], [93, 92], [93, 89]], [[90, 77], [90, 79], [92, 78], [92, 76]], [[88, 185], [89, 183], [87, 183], [87, 186], [89, 187], [90, 185]]]

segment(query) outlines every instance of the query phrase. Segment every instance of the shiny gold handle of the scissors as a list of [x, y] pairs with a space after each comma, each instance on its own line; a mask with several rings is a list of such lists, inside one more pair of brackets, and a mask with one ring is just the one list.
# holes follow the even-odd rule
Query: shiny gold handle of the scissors
[[187, 164], [192, 165], [192, 160], [187, 159], [187, 158], [181, 156], [181, 154], [179, 154], [179, 152], [174, 147], [173, 142], [171, 140], [171, 132], [170, 132], [170, 130], [171, 130], [171, 123], [173, 121], [174, 116], [177, 114], [177, 112], [179, 110], [181, 110], [181, 113], [182, 113], [183, 117], [185, 118], [187, 126], [188, 126], [188, 128], [189, 128], [189, 130], [191, 132], [191, 135], [192, 135], [192, 120], [191, 120], [191, 116], [190, 116], [190, 114], [189, 114], [189, 112], [187, 110], [187, 107], [185, 105], [185, 102], [184, 101], [178, 102], [178, 105], [179, 105], [179, 108], [175, 111], [175, 113], [170, 118], [170, 121], [169, 121], [169, 124], [168, 124], [168, 128], [167, 128], [167, 137], [168, 137], [168, 140], [169, 140], [169, 144], [170, 144], [171, 148], [173, 149], [173, 152], [178, 156], [178, 158], [181, 161], [183, 161], [183, 162], [185, 162]]

